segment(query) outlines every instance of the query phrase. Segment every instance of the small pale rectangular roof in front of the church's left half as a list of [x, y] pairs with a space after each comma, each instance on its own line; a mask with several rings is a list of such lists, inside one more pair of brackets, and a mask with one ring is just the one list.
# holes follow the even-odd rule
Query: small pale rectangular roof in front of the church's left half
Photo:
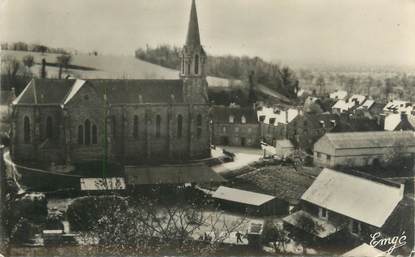
[[104, 191], [125, 189], [124, 178], [80, 178], [82, 191]]

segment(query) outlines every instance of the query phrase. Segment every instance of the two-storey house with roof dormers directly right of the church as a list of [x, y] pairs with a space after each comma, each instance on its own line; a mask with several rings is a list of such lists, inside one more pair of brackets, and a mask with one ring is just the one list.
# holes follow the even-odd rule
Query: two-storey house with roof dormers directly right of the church
[[210, 117], [214, 145], [259, 146], [260, 124], [253, 107], [213, 106]]

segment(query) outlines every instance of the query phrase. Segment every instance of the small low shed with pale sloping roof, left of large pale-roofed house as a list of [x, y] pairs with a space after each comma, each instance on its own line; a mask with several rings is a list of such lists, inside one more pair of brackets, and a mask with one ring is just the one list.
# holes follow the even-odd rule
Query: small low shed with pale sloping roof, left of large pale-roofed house
[[212, 195], [224, 209], [250, 215], [275, 215], [284, 213], [285, 203], [275, 196], [220, 186]]

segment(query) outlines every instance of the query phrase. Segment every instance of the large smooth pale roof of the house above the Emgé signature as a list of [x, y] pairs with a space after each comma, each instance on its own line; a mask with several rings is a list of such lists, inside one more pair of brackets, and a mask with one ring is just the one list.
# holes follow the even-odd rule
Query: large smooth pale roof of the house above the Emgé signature
[[[302, 200], [355, 220], [382, 227], [403, 198], [403, 187], [328, 168], [318, 175]], [[370, 211], [368, 211], [370, 208]]]

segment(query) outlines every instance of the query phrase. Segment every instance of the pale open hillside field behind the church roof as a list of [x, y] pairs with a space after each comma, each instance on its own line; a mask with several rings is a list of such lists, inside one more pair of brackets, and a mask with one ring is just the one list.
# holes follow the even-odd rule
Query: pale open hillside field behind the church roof
[[[40, 63], [45, 58], [48, 63], [55, 63], [58, 54], [37, 53], [24, 51], [1, 51], [1, 57], [14, 56], [22, 60], [25, 55], [32, 55], [36, 65], [31, 68], [32, 73], [39, 74]], [[72, 65], [90, 68], [85, 69], [68, 69], [65, 74], [82, 79], [177, 79], [179, 72], [173, 69], [164, 68], [135, 58], [134, 56], [116, 56], [116, 55], [89, 55], [75, 54], [72, 56]], [[47, 66], [48, 77], [57, 78], [59, 69], [53, 66]], [[230, 82], [228, 79], [208, 77], [210, 87], [231, 87], [241, 84], [240, 81]]]

